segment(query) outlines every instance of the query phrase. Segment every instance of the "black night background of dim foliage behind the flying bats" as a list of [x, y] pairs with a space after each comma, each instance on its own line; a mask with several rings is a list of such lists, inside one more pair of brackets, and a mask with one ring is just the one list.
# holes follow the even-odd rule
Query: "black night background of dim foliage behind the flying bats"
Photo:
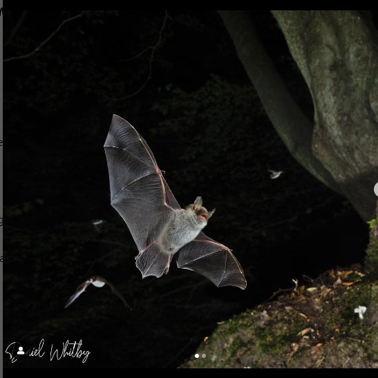
[[[5, 10], [4, 59], [32, 52], [70, 11]], [[277, 69], [312, 117], [303, 79], [267, 10], [251, 11]], [[14, 35], [11, 37], [12, 32]], [[144, 53], [143, 53], [144, 52]], [[136, 93], [133, 95], [133, 93]], [[216, 323], [292, 278], [359, 263], [368, 227], [305, 171], [267, 119], [214, 10], [91, 10], [37, 53], [4, 63], [4, 340], [43, 359], [19, 367], [176, 367]], [[116, 113], [149, 143], [178, 202], [216, 207], [206, 233], [234, 250], [248, 286], [178, 270], [142, 281], [138, 250], [111, 207], [103, 144]], [[285, 171], [271, 180], [267, 169]], [[94, 219], [105, 220], [98, 233]], [[106, 277], [64, 309], [79, 283]], [[88, 361], [50, 362], [83, 341]]]

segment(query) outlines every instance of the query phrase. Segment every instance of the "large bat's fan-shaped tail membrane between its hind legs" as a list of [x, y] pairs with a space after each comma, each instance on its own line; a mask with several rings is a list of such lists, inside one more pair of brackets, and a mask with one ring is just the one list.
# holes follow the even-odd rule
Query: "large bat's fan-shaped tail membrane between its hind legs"
[[168, 272], [170, 261], [171, 256], [162, 252], [158, 243], [151, 243], [143, 252], [140, 252], [135, 263], [143, 278], [147, 276], [159, 278], [164, 272]]

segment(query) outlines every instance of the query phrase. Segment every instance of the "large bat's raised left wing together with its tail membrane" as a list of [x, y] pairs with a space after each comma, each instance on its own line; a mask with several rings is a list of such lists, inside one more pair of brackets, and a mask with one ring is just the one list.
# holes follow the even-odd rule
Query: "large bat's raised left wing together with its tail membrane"
[[[151, 149], [129, 122], [113, 115], [104, 149], [111, 205], [129, 227], [139, 252], [146, 251], [180, 205], [164, 180]], [[168, 256], [160, 253], [156, 245], [154, 249], [156, 258], [152, 266], [147, 259], [149, 254], [140, 253], [137, 258], [143, 276], [160, 277], [164, 273]]]

